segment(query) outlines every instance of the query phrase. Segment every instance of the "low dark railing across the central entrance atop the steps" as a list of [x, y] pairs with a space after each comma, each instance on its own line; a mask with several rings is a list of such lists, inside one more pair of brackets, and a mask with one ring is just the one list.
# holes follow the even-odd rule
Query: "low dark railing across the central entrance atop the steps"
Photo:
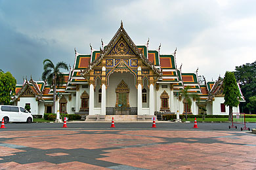
[[106, 107], [106, 115], [137, 115], [137, 107]]

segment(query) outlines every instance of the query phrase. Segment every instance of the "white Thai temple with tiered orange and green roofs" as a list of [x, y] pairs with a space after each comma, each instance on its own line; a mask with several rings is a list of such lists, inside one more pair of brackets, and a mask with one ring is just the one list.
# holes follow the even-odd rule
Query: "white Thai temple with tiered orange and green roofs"
[[[113, 115], [125, 120], [151, 120], [156, 112], [201, 114], [203, 110], [207, 114], [228, 114], [222, 78], [206, 82], [199, 81], [198, 71], [182, 73], [182, 67], [177, 67], [176, 50], [163, 55], [160, 47], [148, 49], [148, 42], [135, 44], [123, 23], [99, 50], [91, 47], [91, 54], [75, 51], [74, 65], [64, 78], [64, 84], [56, 90], [55, 112], [81, 114], [86, 120], [108, 120]], [[191, 106], [182, 93], [187, 86]], [[24, 80], [16, 85], [13, 101], [22, 107], [29, 104], [32, 114], [51, 113], [53, 87], [32, 78]], [[239, 107], [233, 112], [239, 112]]]

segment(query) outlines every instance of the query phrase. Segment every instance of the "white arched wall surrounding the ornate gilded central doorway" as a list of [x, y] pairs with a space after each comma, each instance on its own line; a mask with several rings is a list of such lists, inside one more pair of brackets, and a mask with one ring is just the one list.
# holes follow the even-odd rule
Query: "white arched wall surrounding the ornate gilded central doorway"
[[106, 107], [116, 107], [116, 88], [123, 80], [129, 88], [130, 107], [137, 107], [137, 88], [135, 87], [135, 76], [131, 73], [112, 73], [106, 89]]

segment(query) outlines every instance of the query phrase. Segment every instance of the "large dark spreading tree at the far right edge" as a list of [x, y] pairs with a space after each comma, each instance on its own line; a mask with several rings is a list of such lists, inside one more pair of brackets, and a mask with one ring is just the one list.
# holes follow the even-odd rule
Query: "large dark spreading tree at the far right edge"
[[245, 112], [247, 113], [251, 112], [251, 109], [255, 110], [256, 105], [254, 107], [247, 107], [247, 104], [249, 103], [249, 97], [256, 95], [256, 61], [236, 66], [234, 75], [236, 76], [236, 80], [240, 83], [241, 91], [245, 97], [245, 103], [241, 103], [242, 107], [246, 106]]

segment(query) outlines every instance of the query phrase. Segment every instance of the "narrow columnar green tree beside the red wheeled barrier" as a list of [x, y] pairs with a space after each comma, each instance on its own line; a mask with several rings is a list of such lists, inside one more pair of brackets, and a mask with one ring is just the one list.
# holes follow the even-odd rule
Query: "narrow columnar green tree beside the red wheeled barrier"
[[226, 71], [223, 80], [224, 105], [229, 107], [228, 120], [232, 120], [233, 107], [238, 107], [240, 92], [234, 73]]

